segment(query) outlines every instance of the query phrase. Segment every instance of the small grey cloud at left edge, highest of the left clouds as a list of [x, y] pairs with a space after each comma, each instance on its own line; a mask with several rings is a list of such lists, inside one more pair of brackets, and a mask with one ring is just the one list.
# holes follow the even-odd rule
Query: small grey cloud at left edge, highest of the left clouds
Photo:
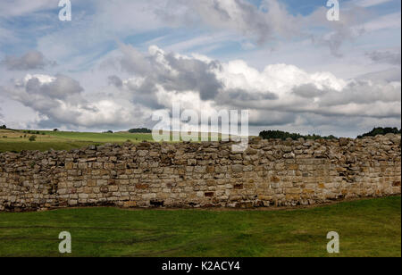
[[1, 64], [9, 71], [29, 71], [42, 70], [56, 63], [46, 60], [45, 56], [38, 51], [30, 51], [22, 56], [7, 55]]

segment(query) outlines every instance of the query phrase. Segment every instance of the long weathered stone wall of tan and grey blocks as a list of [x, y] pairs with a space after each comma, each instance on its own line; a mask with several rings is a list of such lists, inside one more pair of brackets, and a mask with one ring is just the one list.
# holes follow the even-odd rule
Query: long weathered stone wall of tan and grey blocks
[[400, 194], [401, 137], [141, 143], [0, 154], [0, 211], [259, 207]]

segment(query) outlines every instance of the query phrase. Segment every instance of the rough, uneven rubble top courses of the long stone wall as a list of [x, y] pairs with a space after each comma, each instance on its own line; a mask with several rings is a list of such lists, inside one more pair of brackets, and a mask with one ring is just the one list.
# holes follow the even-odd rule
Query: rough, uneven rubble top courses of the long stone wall
[[[21, 153], [5, 152], [0, 154], [0, 165], [5, 162], [10, 163], [18, 159], [34, 159], [39, 160], [46, 157], [50, 158], [77, 158], [77, 157], [95, 157], [97, 153], [104, 153], [108, 156], [116, 154], [132, 154], [133, 152], [159, 151], [162, 154], [186, 154], [186, 153], [218, 153], [223, 154], [239, 154], [231, 152], [233, 142], [180, 142], [180, 143], [156, 143], [156, 142], [142, 142], [139, 144], [125, 143], [123, 145], [105, 144], [103, 146], [87, 146], [80, 149], [73, 149], [70, 151], [22, 151]], [[251, 137], [249, 139], [248, 148], [243, 154], [257, 154], [256, 150], [264, 151], [280, 151], [283, 157], [287, 158], [286, 154], [312, 154], [314, 157], [333, 158], [334, 154], [342, 152], [349, 152], [351, 154], [359, 151], [367, 151], [365, 149], [376, 151], [377, 154], [387, 154], [395, 146], [399, 147], [400, 151], [401, 136], [395, 134], [387, 134], [385, 136], [377, 137], [364, 137], [361, 139], [354, 138], [339, 138], [339, 139], [304, 139], [299, 138], [292, 140], [281, 139], [262, 139], [261, 137]], [[226, 153], [225, 153], [226, 152]], [[152, 156], [152, 155], [150, 155]], [[374, 156], [374, 155], [373, 155]]]

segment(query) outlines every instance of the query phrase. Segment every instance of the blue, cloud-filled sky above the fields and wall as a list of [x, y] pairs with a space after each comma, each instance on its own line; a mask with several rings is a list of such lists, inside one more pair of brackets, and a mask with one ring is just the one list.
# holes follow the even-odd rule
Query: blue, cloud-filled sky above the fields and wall
[[249, 110], [250, 134], [356, 137], [401, 125], [401, 2], [0, 1], [0, 123], [153, 127], [172, 104]]

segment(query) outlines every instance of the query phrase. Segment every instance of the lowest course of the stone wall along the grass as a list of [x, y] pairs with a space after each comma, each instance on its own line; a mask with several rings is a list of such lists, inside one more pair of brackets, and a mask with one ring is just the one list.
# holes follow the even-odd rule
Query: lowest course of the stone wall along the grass
[[303, 203], [298, 202], [264, 202], [264, 201], [247, 201], [226, 204], [149, 204], [138, 205], [135, 202], [103, 202], [97, 204], [76, 204], [76, 205], [20, 205], [4, 202], [0, 205], [0, 212], [46, 212], [58, 209], [80, 209], [80, 208], [96, 208], [96, 207], [117, 207], [121, 209], [144, 210], [144, 209], [161, 209], [161, 210], [179, 210], [179, 209], [213, 209], [213, 210], [283, 210], [283, 209], [303, 209], [320, 207], [323, 205], [339, 204], [341, 202], [350, 202], [356, 200], [373, 199], [381, 197], [401, 196], [401, 193], [390, 196], [347, 196], [338, 197], [336, 199], [327, 200], [308, 200]]

